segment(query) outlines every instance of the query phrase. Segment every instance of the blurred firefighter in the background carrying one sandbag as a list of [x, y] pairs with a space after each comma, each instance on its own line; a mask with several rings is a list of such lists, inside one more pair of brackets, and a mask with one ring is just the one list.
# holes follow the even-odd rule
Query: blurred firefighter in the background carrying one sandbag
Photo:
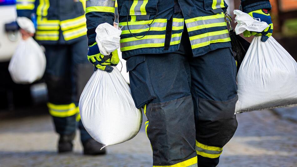
[[[102, 144], [84, 129], [78, 101], [92, 75], [85, 57], [88, 52], [86, 18], [83, 0], [17, 0], [18, 17], [36, 15], [35, 40], [45, 47], [47, 59], [45, 82], [48, 87], [48, 109], [60, 135], [58, 152], [73, 149], [76, 127], [80, 129], [84, 154], [104, 154]], [[21, 30], [26, 39], [33, 34]]]

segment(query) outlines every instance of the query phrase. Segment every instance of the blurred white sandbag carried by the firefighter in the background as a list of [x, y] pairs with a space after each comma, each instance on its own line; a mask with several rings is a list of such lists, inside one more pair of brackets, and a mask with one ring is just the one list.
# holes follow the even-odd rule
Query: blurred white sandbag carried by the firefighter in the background
[[46, 67], [46, 58], [43, 50], [32, 38], [21, 39], [8, 70], [11, 78], [18, 84], [31, 84], [43, 77]]

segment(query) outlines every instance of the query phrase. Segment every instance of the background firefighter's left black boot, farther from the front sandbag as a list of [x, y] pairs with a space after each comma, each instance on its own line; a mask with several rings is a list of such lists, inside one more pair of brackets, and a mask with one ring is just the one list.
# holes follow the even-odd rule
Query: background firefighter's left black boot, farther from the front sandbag
[[73, 134], [63, 134], [60, 135], [59, 143], [58, 143], [58, 152], [65, 153], [72, 151], [73, 144], [72, 141], [75, 137], [75, 133]]

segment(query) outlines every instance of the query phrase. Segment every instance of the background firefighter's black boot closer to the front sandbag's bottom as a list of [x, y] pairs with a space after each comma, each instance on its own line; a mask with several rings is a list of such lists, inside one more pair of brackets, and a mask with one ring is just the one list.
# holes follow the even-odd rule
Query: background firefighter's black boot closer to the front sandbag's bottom
[[88, 139], [87, 141], [83, 142], [83, 154], [85, 155], [102, 155], [106, 153], [106, 149], [103, 148], [103, 144], [97, 142], [96, 140]]

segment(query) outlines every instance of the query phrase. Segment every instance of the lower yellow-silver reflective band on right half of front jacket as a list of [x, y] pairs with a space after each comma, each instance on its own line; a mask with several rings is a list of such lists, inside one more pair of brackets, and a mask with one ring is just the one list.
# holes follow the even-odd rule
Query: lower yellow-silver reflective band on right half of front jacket
[[192, 49], [209, 45], [210, 43], [230, 41], [228, 30], [214, 31], [190, 37]]

